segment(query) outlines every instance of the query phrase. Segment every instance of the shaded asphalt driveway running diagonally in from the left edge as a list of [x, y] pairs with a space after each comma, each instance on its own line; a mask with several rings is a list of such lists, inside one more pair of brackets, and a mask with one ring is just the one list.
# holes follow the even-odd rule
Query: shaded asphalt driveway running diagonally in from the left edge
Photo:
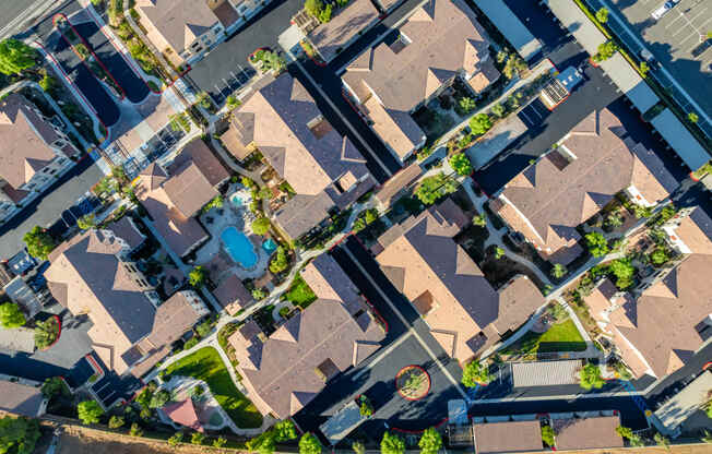
[[25, 247], [22, 237], [27, 231], [35, 226], [48, 227], [103, 177], [102, 169], [86, 155], [40, 196], [0, 227], [0, 260], [17, 253]]

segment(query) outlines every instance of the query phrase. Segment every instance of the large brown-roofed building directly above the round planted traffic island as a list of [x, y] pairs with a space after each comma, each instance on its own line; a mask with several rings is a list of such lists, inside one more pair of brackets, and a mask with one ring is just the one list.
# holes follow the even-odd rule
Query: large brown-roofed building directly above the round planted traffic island
[[544, 303], [523, 275], [496, 290], [452, 238], [467, 223], [446, 200], [391, 227], [373, 247], [383, 273], [413, 303], [448, 355], [464, 363]]

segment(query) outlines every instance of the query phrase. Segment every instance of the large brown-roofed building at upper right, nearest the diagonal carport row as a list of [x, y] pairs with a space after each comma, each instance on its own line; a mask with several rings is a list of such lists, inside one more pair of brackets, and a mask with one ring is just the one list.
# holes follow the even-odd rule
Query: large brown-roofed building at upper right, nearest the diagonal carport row
[[[662, 160], [628, 138], [607, 109], [581, 121], [560, 147], [507, 183], [501, 199], [509, 203], [496, 206], [513, 229], [559, 263], [580, 252], [575, 227], [617, 192], [636, 186], [649, 202], [657, 202], [678, 186]], [[575, 159], [569, 163], [566, 150]]]

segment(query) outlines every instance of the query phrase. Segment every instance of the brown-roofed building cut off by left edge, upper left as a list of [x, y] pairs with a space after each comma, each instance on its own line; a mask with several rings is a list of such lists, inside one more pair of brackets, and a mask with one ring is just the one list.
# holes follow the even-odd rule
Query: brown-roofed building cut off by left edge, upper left
[[21, 95], [0, 100], [0, 177], [12, 189], [28, 182], [56, 156], [48, 145], [59, 135]]

